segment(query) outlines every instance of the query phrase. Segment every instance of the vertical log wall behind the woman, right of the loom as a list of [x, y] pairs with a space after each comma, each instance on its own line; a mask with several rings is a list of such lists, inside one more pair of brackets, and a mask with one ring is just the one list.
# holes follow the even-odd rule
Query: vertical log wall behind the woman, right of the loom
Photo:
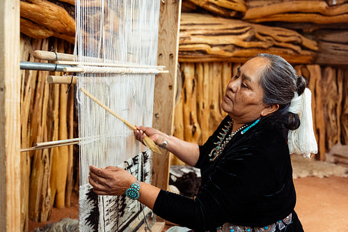
[[[175, 107], [175, 132], [180, 139], [203, 144], [226, 113], [220, 103], [240, 63], [181, 63], [182, 91]], [[313, 123], [318, 160], [335, 144], [348, 144], [347, 68], [295, 65], [312, 91]], [[182, 164], [173, 159], [173, 164]]]

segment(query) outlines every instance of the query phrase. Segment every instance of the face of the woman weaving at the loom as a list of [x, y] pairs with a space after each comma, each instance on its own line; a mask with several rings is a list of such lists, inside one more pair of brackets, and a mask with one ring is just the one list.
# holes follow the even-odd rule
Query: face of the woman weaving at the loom
[[247, 61], [228, 83], [221, 107], [235, 123], [245, 124], [267, 115], [269, 107], [262, 102], [263, 89], [259, 84], [260, 74], [267, 63], [268, 59], [262, 57]]

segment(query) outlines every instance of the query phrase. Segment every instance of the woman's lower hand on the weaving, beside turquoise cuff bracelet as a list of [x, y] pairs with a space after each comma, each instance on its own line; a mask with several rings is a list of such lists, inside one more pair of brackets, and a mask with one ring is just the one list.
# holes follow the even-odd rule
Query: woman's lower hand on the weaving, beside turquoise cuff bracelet
[[89, 183], [93, 186], [93, 191], [99, 195], [125, 194], [125, 191], [134, 183], [136, 178], [125, 169], [119, 167], [106, 167], [98, 169], [90, 166]]

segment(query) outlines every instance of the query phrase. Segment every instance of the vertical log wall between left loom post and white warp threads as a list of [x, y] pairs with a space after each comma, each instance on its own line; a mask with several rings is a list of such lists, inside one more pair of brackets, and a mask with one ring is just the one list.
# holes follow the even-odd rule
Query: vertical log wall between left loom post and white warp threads
[[[36, 49], [71, 53], [71, 45], [58, 39], [21, 36], [21, 61], [36, 61]], [[73, 137], [74, 88], [49, 85], [49, 72], [21, 71], [21, 148], [38, 142]], [[56, 75], [60, 75], [57, 73]], [[70, 206], [74, 187], [72, 146], [21, 153], [21, 226], [28, 230], [29, 219], [46, 222], [52, 207]]]

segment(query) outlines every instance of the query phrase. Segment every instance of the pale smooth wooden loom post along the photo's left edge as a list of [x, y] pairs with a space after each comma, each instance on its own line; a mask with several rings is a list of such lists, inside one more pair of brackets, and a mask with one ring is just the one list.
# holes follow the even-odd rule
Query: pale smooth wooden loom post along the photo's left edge
[[20, 231], [19, 0], [0, 15], [0, 231]]

